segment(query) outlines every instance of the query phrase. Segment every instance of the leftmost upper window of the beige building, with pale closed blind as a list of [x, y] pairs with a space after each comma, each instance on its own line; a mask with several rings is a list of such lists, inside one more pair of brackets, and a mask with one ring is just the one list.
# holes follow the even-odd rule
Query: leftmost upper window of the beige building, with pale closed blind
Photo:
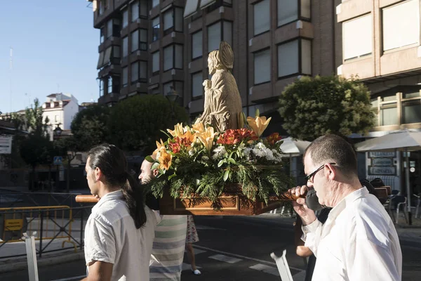
[[342, 24], [344, 60], [370, 55], [373, 49], [373, 17], [363, 15]]

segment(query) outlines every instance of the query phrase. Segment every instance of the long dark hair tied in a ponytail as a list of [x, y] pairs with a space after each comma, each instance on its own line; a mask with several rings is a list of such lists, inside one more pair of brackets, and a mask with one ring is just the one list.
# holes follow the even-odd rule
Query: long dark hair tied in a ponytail
[[127, 172], [127, 160], [123, 151], [107, 143], [97, 145], [88, 152], [91, 169], [99, 168], [105, 183], [121, 187], [128, 211], [135, 221], [136, 228], [146, 223], [142, 188]]

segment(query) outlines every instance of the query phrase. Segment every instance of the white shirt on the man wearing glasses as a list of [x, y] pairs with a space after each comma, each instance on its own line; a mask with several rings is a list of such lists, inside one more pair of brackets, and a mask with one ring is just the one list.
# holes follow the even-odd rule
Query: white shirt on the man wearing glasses
[[316, 220], [302, 230], [305, 246], [317, 257], [312, 280], [401, 280], [399, 237], [367, 188], [347, 195], [323, 225]]

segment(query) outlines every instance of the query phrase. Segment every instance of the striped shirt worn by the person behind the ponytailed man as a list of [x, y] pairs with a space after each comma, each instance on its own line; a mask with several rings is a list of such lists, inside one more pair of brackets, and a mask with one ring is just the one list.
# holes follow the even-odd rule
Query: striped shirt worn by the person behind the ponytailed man
[[180, 281], [184, 258], [187, 216], [161, 216], [152, 247], [150, 280]]

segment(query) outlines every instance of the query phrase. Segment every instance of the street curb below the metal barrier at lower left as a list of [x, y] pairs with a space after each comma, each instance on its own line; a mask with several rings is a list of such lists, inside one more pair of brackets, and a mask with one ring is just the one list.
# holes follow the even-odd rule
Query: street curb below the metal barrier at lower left
[[[84, 251], [78, 251], [77, 253], [64, 252], [59, 255], [46, 256], [41, 259], [37, 258], [37, 266], [51, 266], [59, 263], [67, 263], [69, 261], [78, 261], [85, 259]], [[16, 270], [27, 270], [28, 263], [26, 257], [20, 259], [8, 259], [6, 261], [0, 261], [0, 273], [6, 273]]]

